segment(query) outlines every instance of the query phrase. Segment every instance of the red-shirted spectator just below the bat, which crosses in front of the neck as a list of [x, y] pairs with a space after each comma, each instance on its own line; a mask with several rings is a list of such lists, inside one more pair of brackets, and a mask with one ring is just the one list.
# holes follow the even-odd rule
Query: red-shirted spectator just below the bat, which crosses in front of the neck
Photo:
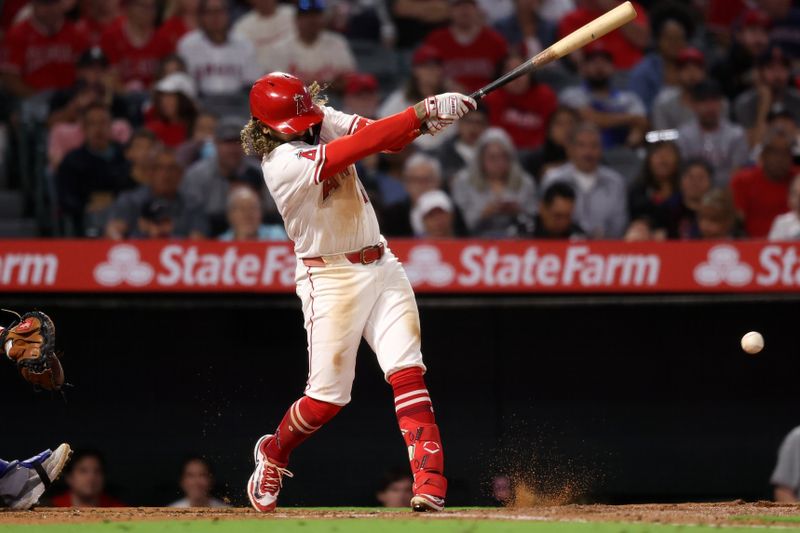
[[[503, 72], [525, 61], [527, 58], [512, 53], [504, 62]], [[558, 98], [550, 87], [528, 75], [490, 93], [485, 103], [492, 126], [504, 129], [518, 150], [532, 151], [544, 143], [547, 122], [558, 107]]]

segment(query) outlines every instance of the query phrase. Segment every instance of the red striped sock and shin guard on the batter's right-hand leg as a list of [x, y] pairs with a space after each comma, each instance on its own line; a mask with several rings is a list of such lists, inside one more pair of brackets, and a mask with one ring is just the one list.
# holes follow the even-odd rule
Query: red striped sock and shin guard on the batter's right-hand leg
[[447, 480], [443, 475], [442, 439], [422, 369], [414, 367], [395, 372], [389, 376], [389, 383], [394, 390], [394, 408], [400, 432], [408, 446], [414, 494], [444, 499]]

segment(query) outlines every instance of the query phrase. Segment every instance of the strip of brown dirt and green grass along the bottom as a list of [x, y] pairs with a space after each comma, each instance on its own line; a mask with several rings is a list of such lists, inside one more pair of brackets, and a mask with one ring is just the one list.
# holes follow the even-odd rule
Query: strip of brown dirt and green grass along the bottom
[[50, 509], [0, 512], [2, 533], [758, 533], [800, 532], [800, 505], [770, 502], [455, 508]]

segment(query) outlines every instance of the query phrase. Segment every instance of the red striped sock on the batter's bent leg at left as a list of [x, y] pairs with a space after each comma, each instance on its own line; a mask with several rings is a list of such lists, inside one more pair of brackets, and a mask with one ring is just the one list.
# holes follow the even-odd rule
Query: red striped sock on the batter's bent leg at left
[[339, 405], [303, 396], [286, 411], [275, 430], [275, 438], [267, 441], [264, 449], [267, 457], [278, 466], [286, 466], [292, 450], [341, 410]]

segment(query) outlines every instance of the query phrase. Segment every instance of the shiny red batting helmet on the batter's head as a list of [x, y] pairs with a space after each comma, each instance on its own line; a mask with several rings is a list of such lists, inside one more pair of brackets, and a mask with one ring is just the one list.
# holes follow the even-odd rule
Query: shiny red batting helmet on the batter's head
[[302, 133], [325, 116], [295, 76], [272, 72], [250, 89], [250, 114], [281, 133]]

